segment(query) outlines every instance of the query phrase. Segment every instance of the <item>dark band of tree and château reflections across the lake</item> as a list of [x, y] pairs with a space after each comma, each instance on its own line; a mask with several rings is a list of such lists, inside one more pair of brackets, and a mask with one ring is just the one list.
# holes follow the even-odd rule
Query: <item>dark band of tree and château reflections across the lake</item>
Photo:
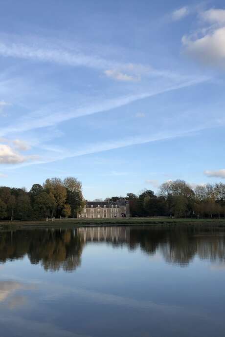
[[84, 227], [76, 230], [29, 230], [0, 233], [0, 262], [28, 256], [45, 271], [73, 272], [91, 242], [126, 246], [143, 253], [161, 253], [170, 264], [188, 265], [195, 256], [225, 262], [225, 232], [206, 228]]

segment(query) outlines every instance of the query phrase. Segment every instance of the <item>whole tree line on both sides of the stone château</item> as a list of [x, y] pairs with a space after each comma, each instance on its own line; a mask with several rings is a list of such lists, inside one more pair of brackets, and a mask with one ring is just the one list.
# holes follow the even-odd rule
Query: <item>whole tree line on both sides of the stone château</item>
[[[197, 185], [183, 180], [168, 181], [156, 195], [144, 190], [139, 195], [127, 193], [131, 216], [175, 216], [198, 218], [225, 217], [225, 184]], [[118, 196], [105, 199], [117, 201]], [[100, 199], [96, 199], [100, 200]], [[84, 207], [82, 184], [74, 177], [46, 179], [30, 191], [0, 187], [1, 220], [39, 220], [46, 217], [76, 217]]]

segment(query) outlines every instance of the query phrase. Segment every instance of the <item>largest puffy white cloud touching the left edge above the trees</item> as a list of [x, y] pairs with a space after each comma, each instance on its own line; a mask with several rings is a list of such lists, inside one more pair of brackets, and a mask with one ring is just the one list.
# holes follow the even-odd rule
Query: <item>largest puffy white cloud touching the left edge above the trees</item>
[[34, 159], [37, 156], [22, 156], [9, 145], [0, 144], [0, 164], [20, 164]]

